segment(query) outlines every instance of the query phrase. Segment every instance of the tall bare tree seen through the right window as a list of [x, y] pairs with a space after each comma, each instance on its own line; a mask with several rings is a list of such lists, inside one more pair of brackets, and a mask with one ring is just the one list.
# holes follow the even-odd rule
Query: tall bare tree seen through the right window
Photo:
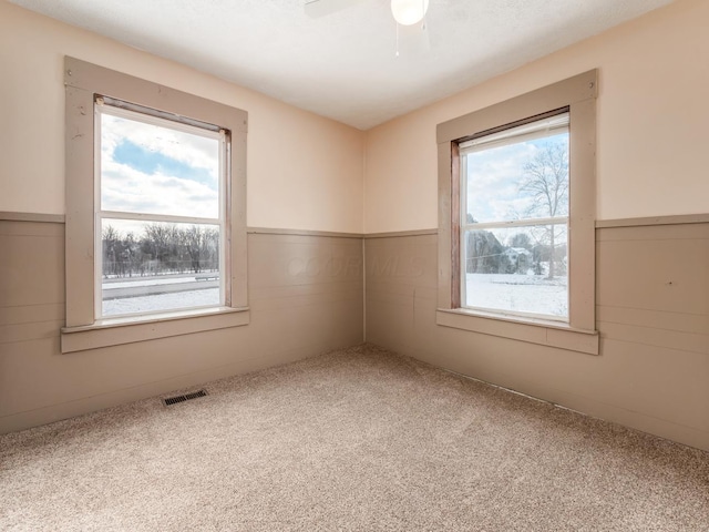
[[[532, 161], [524, 165], [521, 192], [534, 200], [527, 215], [542, 217], [566, 216], [568, 214], [568, 144], [549, 143], [540, 150]], [[548, 278], [554, 278], [556, 237], [562, 229], [552, 224], [544, 226], [542, 241], [548, 242]]]

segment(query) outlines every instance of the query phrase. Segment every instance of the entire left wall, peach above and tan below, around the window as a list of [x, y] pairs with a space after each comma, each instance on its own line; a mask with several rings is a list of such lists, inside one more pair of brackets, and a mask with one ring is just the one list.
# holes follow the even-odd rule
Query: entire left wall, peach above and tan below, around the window
[[[65, 54], [249, 113], [248, 326], [60, 352]], [[362, 341], [362, 132], [7, 2], [0, 64], [0, 432]]]

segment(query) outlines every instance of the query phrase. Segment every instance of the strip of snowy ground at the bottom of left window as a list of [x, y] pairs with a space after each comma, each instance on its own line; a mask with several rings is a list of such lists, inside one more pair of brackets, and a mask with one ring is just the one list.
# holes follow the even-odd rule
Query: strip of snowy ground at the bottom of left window
[[174, 294], [111, 299], [103, 301], [103, 315], [117, 316], [123, 314], [155, 313], [216, 305], [219, 305], [219, 288], [207, 288]]

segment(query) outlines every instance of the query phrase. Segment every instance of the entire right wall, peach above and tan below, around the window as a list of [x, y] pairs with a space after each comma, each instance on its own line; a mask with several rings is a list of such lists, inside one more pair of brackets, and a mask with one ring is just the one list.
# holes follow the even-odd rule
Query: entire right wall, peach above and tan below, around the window
[[[369, 131], [368, 341], [709, 450], [707, 20], [679, 1]], [[436, 326], [436, 124], [594, 68], [599, 356]]]

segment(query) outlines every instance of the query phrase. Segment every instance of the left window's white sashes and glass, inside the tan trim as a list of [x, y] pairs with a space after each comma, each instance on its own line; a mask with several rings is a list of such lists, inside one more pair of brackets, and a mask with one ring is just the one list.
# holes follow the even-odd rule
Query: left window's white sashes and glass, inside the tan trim
[[226, 305], [228, 133], [95, 109], [95, 317]]

